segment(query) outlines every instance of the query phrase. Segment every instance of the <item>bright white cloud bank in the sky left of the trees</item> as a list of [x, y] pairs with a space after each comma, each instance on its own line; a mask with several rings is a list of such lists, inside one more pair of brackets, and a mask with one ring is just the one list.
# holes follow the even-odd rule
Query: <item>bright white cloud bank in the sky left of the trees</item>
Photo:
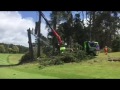
[[[27, 29], [35, 28], [32, 17], [22, 18], [17, 11], [0, 12], [0, 42], [28, 46]], [[47, 36], [45, 24], [41, 24], [41, 33]]]

